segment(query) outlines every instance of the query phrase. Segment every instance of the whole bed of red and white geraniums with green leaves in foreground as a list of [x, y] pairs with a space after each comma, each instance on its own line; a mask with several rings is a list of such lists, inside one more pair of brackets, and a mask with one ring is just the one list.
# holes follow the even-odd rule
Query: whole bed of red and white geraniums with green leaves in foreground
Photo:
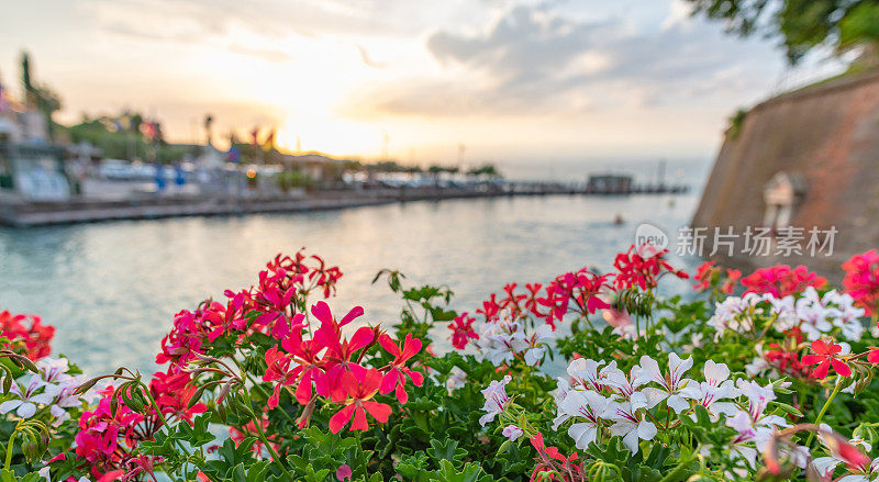
[[[387, 330], [364, 324], [360, 306], [336, 316], [322, 301], [337, 268], [278, 256], [251, 288], [178, 313], [148, 380], [123, 368], [84, 382], [46, 357], [51, 327], [4, 314], [3, 473], [879, 480], [869, 277], [839, 292], [775, 267], [735, 296], [739, 273], [709, 262], [694, 277], [702, 294], [667, 298], [660, 280], [687, 274], [665, 254], [633, 246], [607, 274], [510, 283], [477, 316], [452, 310], [450, 289], [403, 289], [385, 270], [405, 304]], [[847, 265], [872, 272], [856, 258]], [[436, 333], [454, 350], [434, 352]], [[218, 429], [231, 436], [214, 444]]]

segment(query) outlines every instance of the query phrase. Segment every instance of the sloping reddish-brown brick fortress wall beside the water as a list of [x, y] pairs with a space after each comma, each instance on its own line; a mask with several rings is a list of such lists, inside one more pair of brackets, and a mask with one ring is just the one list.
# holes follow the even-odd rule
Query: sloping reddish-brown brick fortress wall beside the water
[[741, 267], [804, 264], [833, 279], [855, 253], [879, 248], [879, 72], [844, 77], [786, 93], [752, 109], [727, 132], [692, 225], [759, 226], [763, 190], [779, 171], [801, 175], [806, 192], [791, 225], [835, 226], [831, 257], [748, 257]]

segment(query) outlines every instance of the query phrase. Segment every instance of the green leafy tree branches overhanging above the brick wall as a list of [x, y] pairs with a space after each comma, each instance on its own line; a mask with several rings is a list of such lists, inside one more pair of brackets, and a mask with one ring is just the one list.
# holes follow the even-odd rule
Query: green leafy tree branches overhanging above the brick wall
[[780, 37], [788, 60], [826, 45], [838, 53], [872, 48], [879, 41], [877, 0], [687, 0], [693, 14], [726, 22], [727, 32], [742, 36]]

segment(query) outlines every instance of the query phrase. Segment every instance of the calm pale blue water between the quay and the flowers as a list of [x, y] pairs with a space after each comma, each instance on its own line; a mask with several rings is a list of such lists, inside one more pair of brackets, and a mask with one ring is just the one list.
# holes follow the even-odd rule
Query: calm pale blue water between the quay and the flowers
[[[400, 302], [371, 285], [382, 268], [447, 283], [470, 310], [508, 281], [608, 269], [650, 222], [672, 234], [698, 195], [546, 197], [416, 202], [344, 211], [0, 228], [0, 309], [57, 328], [54, 351], [89, 374], [152, 372], [171, 317], [224, 289], [249, 287], [267, 260], [300, 247], [342, 268], [334, 311], [360, 304], [391, 322]], [[625, 223], [615, 225], [616, 214]], [[674, 246], [672, 246], [674, 250]], [[692, 269], [697, 260], [679, 260]]]

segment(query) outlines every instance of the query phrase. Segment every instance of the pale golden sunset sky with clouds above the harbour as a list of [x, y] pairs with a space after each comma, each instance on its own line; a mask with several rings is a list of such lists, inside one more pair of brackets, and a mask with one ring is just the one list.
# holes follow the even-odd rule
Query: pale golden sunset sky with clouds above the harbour
[[[726, 117], [786, 86], [776, 41], [681, 1], [42, 0], [0, 16], [63, 122], [123, 108], [171, 141], [277, 127], [278, 143], [403, 161], [713, 156]], [[816, 75], [810, 65], [792, 78]], [[790, 72], [789, 72], [790, 75]]]

